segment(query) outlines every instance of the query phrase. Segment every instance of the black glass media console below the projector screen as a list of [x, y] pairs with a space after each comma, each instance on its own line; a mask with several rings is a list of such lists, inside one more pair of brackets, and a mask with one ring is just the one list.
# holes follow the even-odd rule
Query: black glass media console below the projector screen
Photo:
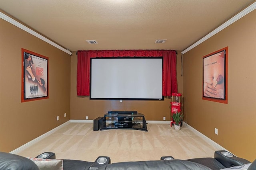
[[144, 115], [137, 111], [115, 111], [104, 114], [101, 131], [120, 128], [148, 131]]

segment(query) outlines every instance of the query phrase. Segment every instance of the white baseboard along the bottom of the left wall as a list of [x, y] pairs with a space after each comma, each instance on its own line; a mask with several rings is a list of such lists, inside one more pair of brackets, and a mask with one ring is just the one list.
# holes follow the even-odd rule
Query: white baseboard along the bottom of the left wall
[[10, 153], [17, 154], [18, 152], [30, 147], [30, 145], [33, 145], [34, 143], [37, 143], [38, 141], [42, 140], [43, 138], [51, 135], [55, 131], [59, 130], [61, 127], [66, 126], [68, 123], [70, 123], [70, 121], [67, 121], [67, 122], [63, 123], [63, 124], [59, 125], [58, 127], [55, 127], [54, 129], [44, 133], [43, 135], [37, 137], [36, 139], [33, 139], [32, 141], [29, 141], [28, 143], [22, 145], [21, 147], [18, 147], [17, 149], [12, 150]]

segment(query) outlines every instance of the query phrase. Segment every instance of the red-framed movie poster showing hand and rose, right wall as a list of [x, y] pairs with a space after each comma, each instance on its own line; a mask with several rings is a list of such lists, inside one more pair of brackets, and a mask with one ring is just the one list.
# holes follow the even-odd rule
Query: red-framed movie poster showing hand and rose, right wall
[[203, 100], [228, 103], [228, 47], [203, 57]]

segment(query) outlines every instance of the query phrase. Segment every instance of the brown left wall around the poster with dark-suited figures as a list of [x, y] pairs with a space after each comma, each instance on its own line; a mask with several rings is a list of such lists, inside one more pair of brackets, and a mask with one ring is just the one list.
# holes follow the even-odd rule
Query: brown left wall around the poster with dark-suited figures
[[[49, 58], [48, 99], [21, 103], [21, 48]], [[70, 55], [0, 19], [0, 151], [10, 152], [68, 120]]]

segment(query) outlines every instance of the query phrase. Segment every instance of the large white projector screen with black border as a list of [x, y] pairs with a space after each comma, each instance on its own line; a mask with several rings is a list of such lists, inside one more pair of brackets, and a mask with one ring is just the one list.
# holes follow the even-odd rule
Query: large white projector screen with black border
[[90, 99], [164, 100], [162, 57], [90, 59]]

